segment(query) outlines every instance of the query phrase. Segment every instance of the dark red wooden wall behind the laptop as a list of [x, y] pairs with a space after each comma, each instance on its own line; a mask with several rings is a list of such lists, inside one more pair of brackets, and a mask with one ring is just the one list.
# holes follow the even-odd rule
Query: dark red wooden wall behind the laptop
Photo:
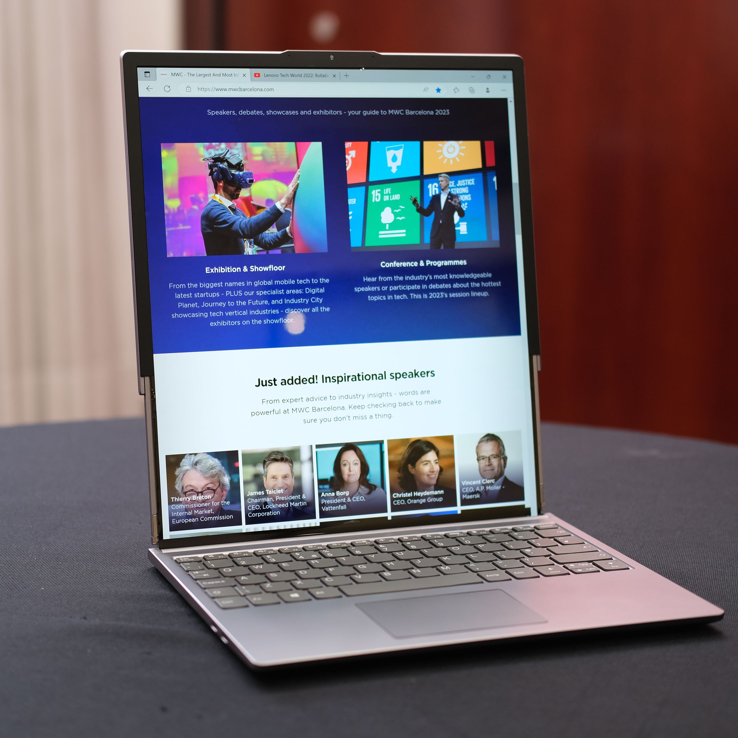
[[542, 418], [738, 443], [738, 3], [267, 7], [185, 0], [187, 48], [523, 56]]

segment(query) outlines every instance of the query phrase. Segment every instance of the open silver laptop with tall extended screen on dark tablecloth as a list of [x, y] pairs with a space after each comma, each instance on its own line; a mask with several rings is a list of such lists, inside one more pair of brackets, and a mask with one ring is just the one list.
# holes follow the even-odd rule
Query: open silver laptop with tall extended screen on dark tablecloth
[[545, 505], [522, 59], [121, 68], [148, 558], [223, 644], [265, 669], [722, 618]]

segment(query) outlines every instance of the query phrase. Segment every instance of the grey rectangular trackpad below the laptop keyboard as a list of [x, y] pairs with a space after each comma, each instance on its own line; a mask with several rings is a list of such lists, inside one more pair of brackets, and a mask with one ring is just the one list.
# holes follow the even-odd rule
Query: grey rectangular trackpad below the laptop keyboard
[[546, 621], [502, 590], [383, 600], [356, 607], [395, 638]]

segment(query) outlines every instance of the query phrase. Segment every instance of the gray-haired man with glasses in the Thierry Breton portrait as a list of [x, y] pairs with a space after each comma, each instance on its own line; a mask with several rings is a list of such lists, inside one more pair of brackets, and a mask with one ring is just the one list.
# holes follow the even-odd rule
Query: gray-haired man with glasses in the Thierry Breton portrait
[[218, 458], [206, 453], [187, 454], [174, 473], [176, 496], [169, 506], [170, 531], [230, 528], [241, 525], [241, 506], [226, 497], [230, 476]]

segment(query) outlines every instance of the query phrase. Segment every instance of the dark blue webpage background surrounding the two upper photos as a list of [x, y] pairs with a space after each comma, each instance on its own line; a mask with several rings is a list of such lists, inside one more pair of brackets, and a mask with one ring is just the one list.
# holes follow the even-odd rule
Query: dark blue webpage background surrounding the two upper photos
[[[141, 98], [141, 138], [147, 224], [151, 321], [155, 354], [305, 345], [337, 345], [427, 339], [520, 335], [513, 226], [507, 100], [444, 100], [449, 114], [352, 115], [398, 106], [435, 110], [425, 100]], [[439, 103], [441, 104], [441, 103]], [[208, 110], [338, 110], [342, 115], [212, 116]], [[371, 140], [494, 140], [500, 248], [441, 250], [351, 249], [345, 142]], [[328, 251], [259, 256], [168, 258], [162, 190], [162, 143], [196, 141], [322, 141]], [[205, 165], [203, 165], [205, 166]], [[422, 175], [421, 175], [422, 179]], [[361, 187], [362, 185], [359, 185]], [[356, 185], [351, 185], [356, 187]], [[298, 189], [299, 193], [299, 189]], [[299, 197], [299, 195], [298, 195]], [[384, 269], [382, 261], [464, 259], [466, 266]], [[206, 266], [285, 264], [282, 272], [206, 275]], [[501, 286], [489, 297], [369, 302], [354, 292], [363, 277], [491, 272]], [[290, 334], [283, 324], [211, 326], [210, 318], [175, 319], [170, 283], [327, 277], [329, 312], [307, 313], [305, 329]], [[268, 288], [267, 288], [268, 289]]]

